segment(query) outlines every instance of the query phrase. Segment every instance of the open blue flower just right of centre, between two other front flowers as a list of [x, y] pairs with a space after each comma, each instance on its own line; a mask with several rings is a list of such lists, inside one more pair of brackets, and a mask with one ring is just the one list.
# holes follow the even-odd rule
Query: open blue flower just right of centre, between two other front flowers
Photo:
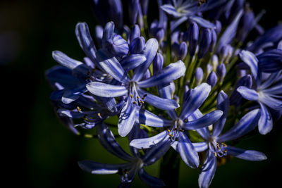
[[[208, 125], [215, 123], [221, 117], [222, 111], [216, 110], [212, 111], [211, 113], [207, 113], [198, 119], [190, 119], [190, 116], [195, 113], [197, 108], [199, 108], [204, 100], [207, 99], [210, 90], [211, 87], [206, 83], [200, 84], [199, 86], [195, 87], [195, 89], [190, 89], [179, 116], [174, 110], [167, 111], [172, 120], [162, 120], [161, 118], [152, 116], [150, 113], [143, 113], [145, 119], [147, 120], [146, 122], [142, 122], [145, 123], [145, 125], [162, 124], [163, 127], [168, 127], [170, 130], [165, 130], [154, 137], [135, 139], [130, 142], [130, 146], [134, 146], [139, 149], [149, 148], [155, 144], [167, 142], [169, 140], [174, 143], [176, 142], [176, 139], [178, 139], [176, 147], [178, 147], [181, 158], [191, 168], [197, 168], [200, 163], [199, 156], [197, 155], [192, 142], [190, 142], [190, 139], [187, 137], [185, 130], [197, 130], [202, 127], [207, 127]], [[162, 96], [166, 96], [168, 98], [171, 95], [170, 89], [168, 89], [168, 87], [161, 88], [159, 92]]]

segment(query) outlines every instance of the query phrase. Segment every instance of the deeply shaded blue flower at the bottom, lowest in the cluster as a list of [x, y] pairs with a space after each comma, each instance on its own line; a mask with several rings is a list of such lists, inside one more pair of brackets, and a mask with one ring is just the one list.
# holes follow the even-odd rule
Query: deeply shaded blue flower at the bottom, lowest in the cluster
[[[130, 187], [137, 173], [139, 174], [140, 179], [145, 182], [147, 186], [164, 187], [165, 184], [162, 180], [146, 173], [143, 167], [152, 165], [159, 160], [159, 158], [161, 158], [161, 156], [163, 156], [169, 149], [170, 144], [168, 142], [163, 142], [154, 146], [152, 149], [148, 149], [144, 156], [140, 155], [138, 149], [130, 147], [130, 151], [133, 154], [133, 156], [130, 156], [121, 148], [118, 142], [116, 142], [114, 134], [111, 130], [109, 130], [109, 127], [106, 127], [104, 124], [99, 125], [97, 127], [97, 134], [99, 141], [107, 151], [127, 162], [121, 164], [105, 164], [96, 163], [94, 161], [80, 161], [78, 162], [78, 165], [82, 168], [82, 170], [99, 175], [121, 175], [121, 184], [119, 187]], [[144, 130], [141, 130], [139, 125], [135, 124], [133, 126], [133, 130], [130, 134], [128, 134], [128, 139], [130, 141], [140, 137], [147, 137], [147, 133]]]

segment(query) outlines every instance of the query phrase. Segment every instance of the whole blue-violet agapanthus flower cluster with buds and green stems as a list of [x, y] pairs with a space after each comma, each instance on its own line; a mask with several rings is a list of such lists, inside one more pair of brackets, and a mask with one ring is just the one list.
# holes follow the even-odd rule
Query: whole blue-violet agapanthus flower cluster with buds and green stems
[[[264, 12], [255, 15], [244, 0], [156, 1], [153, 20], [148, 0], [129, 0], [128, 25], [121, 1], [92, 1], [101, 25], [91, 32], [87, 23], [76, 25], [81, 61], [53, 51], [60, 65], [46, 72], [50, 99], [72, 132], [96, 129], [92, 137], [125, 161], [79, 161], [82, 170], [118, 174], [119, 187], [130, 187], [137, 174], [149, 187], [164, 187], [167, 180], [143, 167], [175, 150], [200, 169], [199, 187], [209, 187], [219, 158], [266, 159], [232, 141], [257, 126], [267, 134], [281, 116], [282, 25], [264, 32]], [[131, 154], [115, 137], [127, 137]]]

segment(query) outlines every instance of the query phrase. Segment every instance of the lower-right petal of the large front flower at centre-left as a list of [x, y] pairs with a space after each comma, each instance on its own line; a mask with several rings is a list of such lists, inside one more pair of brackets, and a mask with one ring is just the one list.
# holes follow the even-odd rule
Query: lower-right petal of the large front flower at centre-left
[[147, 94], [147, 96], [145, 97], [145, 101], [149, 104], [151, 104], [152, 106], [155, 106], [161, 110], [173, 110], [175, 108], [179, 107], [179, 104], [174, 101], [173, 99], [163, 99], [160, 98], [159, 96], [155, 96], [153, 94], [149, 94], [145, 91], [143, 91], [142, 89], [138, 89], [138, 92], [144, 96], [145, 94]]

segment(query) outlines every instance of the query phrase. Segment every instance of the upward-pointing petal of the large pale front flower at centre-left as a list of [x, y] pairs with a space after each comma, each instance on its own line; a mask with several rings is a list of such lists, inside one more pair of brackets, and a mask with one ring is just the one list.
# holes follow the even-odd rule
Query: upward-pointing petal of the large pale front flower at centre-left
[[144, 54], [147, 59], [144, 63], [142, 63], [139, 67], [135, 69], [131, 80], [138, 82], [142, 79], [143, 75], [149, 68], [149, 65], [152, 63], [154, 56], [156, 56], [158, 48], [159, 43], [157, 39], [149, 39], [146, 42], [142, 54]]

